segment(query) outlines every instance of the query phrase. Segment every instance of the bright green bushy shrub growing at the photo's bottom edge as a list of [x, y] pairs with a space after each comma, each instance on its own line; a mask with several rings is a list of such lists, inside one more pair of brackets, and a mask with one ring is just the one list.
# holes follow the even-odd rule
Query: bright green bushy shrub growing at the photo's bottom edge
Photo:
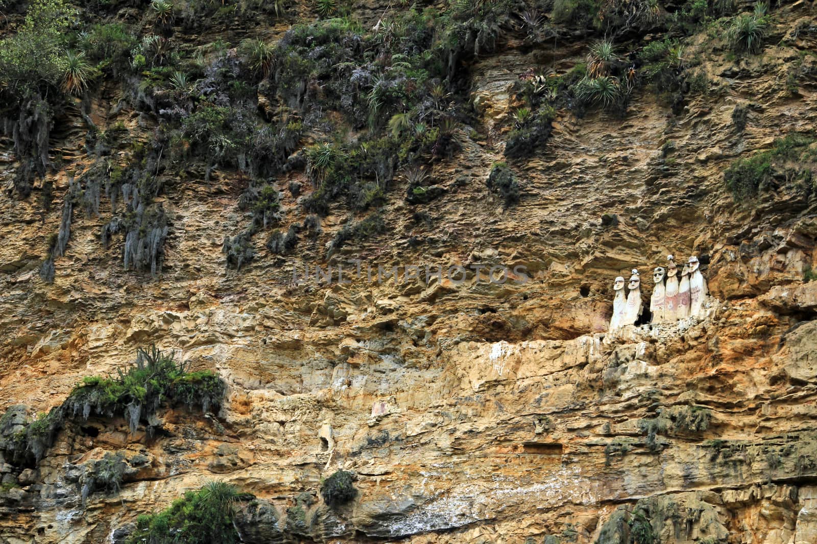
[[236, 544], [233, 526], [238, 490], [225, 482], [212, 481], [199, 491], [189, 491], [166, 510], [140, 515], [136, 530], [125, 544]]

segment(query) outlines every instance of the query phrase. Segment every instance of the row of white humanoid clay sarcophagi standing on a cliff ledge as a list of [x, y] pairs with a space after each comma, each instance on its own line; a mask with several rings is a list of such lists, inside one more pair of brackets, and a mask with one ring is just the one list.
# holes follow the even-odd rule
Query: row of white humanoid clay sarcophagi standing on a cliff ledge
[[[659, 266], [653, 271], [655, 288], [650, 297], [651, 323], [676, 323], [690, 317], [703, 318], [707, 282], [699, 269], [698, 257], [690, 256], [689, 262], [681, 270], [681, 279], [678, 278], [678, 268], [672, 255], [667, 255], [667, 261], [666, 269]], [[613, 284], [615, 298], [613, 317], [610, 319], [611, 332], [625, 325], [634, 325], [641, 316], [643, 309], [638, 270], [632, 270], [627, 288], [629, 291], [625, 296], [624, 279], [618, 276]]]

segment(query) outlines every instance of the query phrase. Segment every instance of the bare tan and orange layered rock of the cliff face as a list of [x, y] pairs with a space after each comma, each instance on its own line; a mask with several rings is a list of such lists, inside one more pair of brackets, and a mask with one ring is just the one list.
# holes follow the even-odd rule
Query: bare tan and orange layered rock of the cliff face
[[[377, 20], [378, 9], [355, 12]], [[557, 110], [547, 147], [511, 163], [520, 202], [506, 208], [486, 180], [519, 105], [511, 88], [587, 51], [581, 38], [533, 48], [507, 38], [467, 66], [474, 114], [458, 153], [431, 168], [440, 196], [408, 202], [408, 182], [395, 180], [386, 232], [329, 259], [341, 204], [292, 255], [225, 271], [222, 241], [251, 221], [238, 207], [246, 181], [167, 172], [154, 198], [169, 224], [158, 279], [123, 270], [121, 249], [100, 244], [103, 198], [100, 217], [74, 213], [48, 284], [38, 268], [59, 206], [43, 213], [36, 198], [3, 193], [6, 439], [82, 377], [127, 366], [136, 346], [217, 371], [228, 393], [218, 413], [160, 410], [153, 436], [124, 419], [67, 421], [38, 463], [0, 462], [0, 542], [122, 542], [137, 515], [212, 478], [257, 497], [235, 519], [253, 544], [641, 544], [640, 519], [650, 542], [817, 542], [817, 282], [804, 279], [817, 270], [815, 192], [779, 183], [735, 202], [724, 183], [736, 158], [817, 121], [815, 7], [774, 14], [761, 55], [734, 56], [712, 33], [685, 40], [708, 91], [675, 114], [648, 91], [623, 118]], [[286, 25], [258, 28], [272, 38]], [[91, 118], [146, 138], [155, 120], [120, 98], [98, 89]], [[81, 107], [52, 131], [57, 196], [88, 166]], [[19, 164], [2, 143], [11, 183]], [[310, 187], [303, 169], [277, 182], [291, 181]], [[284, 230], [303, 221], [296, 197], [283, 191], [281, 204]], [[263, 242], [252, 240], [258, 255]], [[614, 277], [641, 270], [649, 305], [650, 272], [667, 253], [701, 257], [707, 317], [606, 335]], [[354, 270], [354, 260], [524, 266], [531, 280], [292, 282], [293, 266]], [[86, 497], [106, 453], [127, 464], [121, 488]], [[318, 490], [338, 468], [357, 494], [331, 508]]]

